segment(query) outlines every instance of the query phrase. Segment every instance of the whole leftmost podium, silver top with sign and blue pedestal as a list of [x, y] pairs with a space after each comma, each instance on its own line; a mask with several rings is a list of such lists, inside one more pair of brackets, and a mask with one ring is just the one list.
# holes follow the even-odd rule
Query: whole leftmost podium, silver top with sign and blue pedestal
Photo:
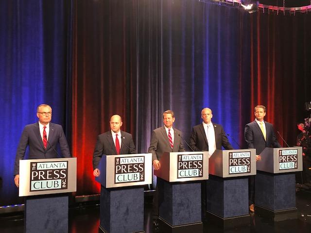
[[68, 195], [76, 191], [76, 158], [19, 161], [25, 233], [68, 232]]

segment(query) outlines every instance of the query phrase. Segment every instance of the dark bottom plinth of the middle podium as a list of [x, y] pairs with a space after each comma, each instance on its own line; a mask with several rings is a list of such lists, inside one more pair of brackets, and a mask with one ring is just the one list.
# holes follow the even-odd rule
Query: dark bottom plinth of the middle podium
[[161, 233], [203, 233], [203, 223], [191, 223], [179, 226], [172, 226], [170, 223], [162, 219], [159, 219], [159, 230]]

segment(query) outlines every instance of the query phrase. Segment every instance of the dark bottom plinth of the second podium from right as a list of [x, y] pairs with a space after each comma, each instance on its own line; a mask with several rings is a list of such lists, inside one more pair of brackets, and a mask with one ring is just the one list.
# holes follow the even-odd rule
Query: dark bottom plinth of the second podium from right
[[223, 229], [248, 226], [250, 221], [249, 215], [235, 216], [235, 217], [221, 217], [208, 211], [206, 212], [206, 218], [207, 222], [220, 226]]

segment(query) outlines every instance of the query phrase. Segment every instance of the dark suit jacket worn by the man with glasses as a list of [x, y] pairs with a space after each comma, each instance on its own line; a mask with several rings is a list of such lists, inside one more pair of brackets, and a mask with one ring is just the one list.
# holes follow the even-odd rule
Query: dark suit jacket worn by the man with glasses
[[[40, 135], [39, 123], [26, 125], [21, 134], [15, 157], [15, 175], [19, 173], [19, 160], [25, 156], [26, 148], [29, 146], [28, 159], [50, 159], [57, 158], [57, 144], [59, 144], [63, 157], [71, 157], [65, 133], [61, 125], [50, 122], [50, 132], [47, 149], [44, 149]], [[51, 147], [53, 146], [53, 148]]]

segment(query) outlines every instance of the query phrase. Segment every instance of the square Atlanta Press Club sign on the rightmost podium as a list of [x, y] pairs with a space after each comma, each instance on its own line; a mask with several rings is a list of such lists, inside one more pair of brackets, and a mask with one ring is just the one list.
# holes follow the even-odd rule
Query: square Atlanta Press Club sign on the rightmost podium
[[297, 169], [298, 163], [298, 150], [279, 150], [278, 151], [278, 169]]

